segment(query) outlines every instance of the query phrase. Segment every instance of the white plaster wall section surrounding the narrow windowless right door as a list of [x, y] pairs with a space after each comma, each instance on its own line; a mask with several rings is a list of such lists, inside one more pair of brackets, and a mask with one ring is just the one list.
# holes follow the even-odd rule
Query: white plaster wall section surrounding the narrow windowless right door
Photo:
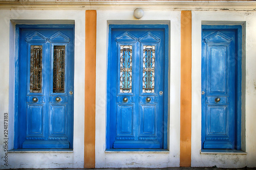
[[[223, 21], [223, 24], [237, 24], [246, 21], [246, 103], [245, 141], [247, 155], [200, 154], [201, 150], [201, 23], [202, 21]], [[236, 22], [242, 21], [242, 22]], [[218, 22], [216, 22], [218, 23]], [[246, 11], [193, 11], [192, 12], [192, 134], [191, 166], [256, 167], [256, 12]], [[244, 68], [243, 68], [244, 69]]]

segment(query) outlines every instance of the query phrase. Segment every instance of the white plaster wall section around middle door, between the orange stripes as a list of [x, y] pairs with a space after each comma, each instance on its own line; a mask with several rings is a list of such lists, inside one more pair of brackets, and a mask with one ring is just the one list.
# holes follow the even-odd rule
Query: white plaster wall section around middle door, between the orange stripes
[[[143, 8], [143, 6], [141, 7]], [[109, 23], [170, 22], [169, 55], [169, 152], [108, 152], [106, 141], [106, 59]], [[166, 23], [166, 21], [165, 21]], [[97, 10], [96, 58], [96, 167], [170, 167], [179, 166], [180, 151], [180, 11], [144, 9], [144, 16], [136, 19], [133, 10]]]

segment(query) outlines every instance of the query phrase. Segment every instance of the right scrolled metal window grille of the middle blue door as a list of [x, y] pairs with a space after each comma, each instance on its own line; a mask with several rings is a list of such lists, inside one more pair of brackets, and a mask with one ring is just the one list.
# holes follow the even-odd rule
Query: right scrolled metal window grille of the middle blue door
[[143, 92], [155, 92], [155, 46], [143, 46]]

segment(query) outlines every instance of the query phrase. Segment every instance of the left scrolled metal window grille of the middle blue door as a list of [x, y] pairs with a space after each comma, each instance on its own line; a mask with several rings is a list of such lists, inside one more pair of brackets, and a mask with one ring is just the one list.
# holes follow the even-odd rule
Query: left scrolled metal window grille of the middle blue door
[[132, 92], [132, 46], [122, 45], [120, 49], [120, 92]]

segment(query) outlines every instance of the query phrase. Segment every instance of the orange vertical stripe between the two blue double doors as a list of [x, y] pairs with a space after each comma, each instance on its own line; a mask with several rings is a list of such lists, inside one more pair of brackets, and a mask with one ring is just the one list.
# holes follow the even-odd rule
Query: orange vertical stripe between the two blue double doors
[[86, 11], [86, 76], [84, 85], [84, 168], [95, 167], [96, 21], [96, 11]]

